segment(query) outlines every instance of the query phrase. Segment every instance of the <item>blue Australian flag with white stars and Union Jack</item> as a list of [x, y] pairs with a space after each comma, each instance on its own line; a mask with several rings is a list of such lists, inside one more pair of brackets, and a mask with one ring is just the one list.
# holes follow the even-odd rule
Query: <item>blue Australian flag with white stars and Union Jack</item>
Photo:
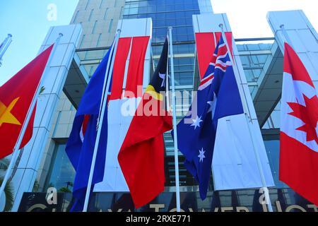
[[218, 119], [242, 113], [232, 62], [221, 37], [192, 106], [177, 125], [178, 148], [186, 158], [184, 166], [199, 183], [202, 200], [210, 183]]

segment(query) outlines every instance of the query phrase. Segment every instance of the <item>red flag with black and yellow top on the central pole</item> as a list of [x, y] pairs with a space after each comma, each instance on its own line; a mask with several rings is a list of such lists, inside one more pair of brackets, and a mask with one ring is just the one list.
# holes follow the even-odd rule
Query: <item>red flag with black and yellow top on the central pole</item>
[[149, 203], [164, 190], [163, 133], [172, 129], [172, 117], [162, 108], [165, 95], [161, 92], [166, 90], [167, 59], [166, 39], [151, 83], [136, 109], [118, 154], [136, 208]]

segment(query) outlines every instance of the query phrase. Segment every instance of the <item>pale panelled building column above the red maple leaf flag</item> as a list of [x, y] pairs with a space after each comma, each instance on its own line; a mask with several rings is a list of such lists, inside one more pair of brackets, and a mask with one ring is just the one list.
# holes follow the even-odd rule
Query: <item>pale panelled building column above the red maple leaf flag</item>
[[284, 52], [284, 42], [288, 42], [302, 60], [317, 89], [318, 34], [305, 13], [301, 10], [271, 11], [267, 14], [267, 20], [281, 52]]

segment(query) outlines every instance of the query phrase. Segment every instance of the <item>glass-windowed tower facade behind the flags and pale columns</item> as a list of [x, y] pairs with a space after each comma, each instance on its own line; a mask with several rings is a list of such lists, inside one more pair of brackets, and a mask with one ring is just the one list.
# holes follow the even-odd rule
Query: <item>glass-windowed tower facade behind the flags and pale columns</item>
[[[172, 27], [172, 41], [175, 59], [175, 78], [177, 90], [182, 90], [191, 97], [196, 87], [199, 74], [196, 72], [196, 48], [192, 15], [212, 13], [211, 1], [208, 0], [80, 0], [71, 23], [81, 23], [83, 35], [77, 47], [76, 54], [81, 59], [81, 65], [85, 66], [89, 76], [92, 76], [105, 52], [110, 47], [119, 19], [152, 18], [153, 39], [152, 57], [153, 66], [158, 63], [163, 42], [167, 35], [167, 28]], [[251, 95], [257, 92], [257, 83], [266, 60], [271, 57], [273, 39], [265, 40], [266, 43], [251, 44], [251, 40], [236, 40], [245, 76], [249, 83]], [[260, 41], [262, 42], [262, 41]], [[183, 96], [185, 97], [185, 95]], [[177, 100], [178, 119], [187, 113], [191, 103], [184, 102], [182, 97]], [[64, 109], [66, 105], [66, 109]], [[60, 112], [73, 112], [69, 114], [69, 125], [73, 121], [75, 109], [67, 100]], [[63, 113], [60, 113], [63, 114]], [[59, 114], [59, 115], [60, 115]], [[55, 124], [61, 124], [63, 117], [56, 117]], [[288, 186], [278, 179], [279, 159], [279, 103], [269, 119], [261, 129], [266, 152], [269, 157], [276, 188], [270, 190], [271, 200], [275, 210], [286, 210], [289, 205], [300, 205], [305, 210], [314, 210], [311, 204], [295, 194]], [[54, 133], [54, 132], [52, 132]], [[172, 137], [165, 133], [165, 193], [158, 196], [153, 205], [160, 210], [175, 208], [175, 160]], [[47, 169], [42, 170], [37, 176], [35, 191], [46, 192], [49, 187], [56, 187], [63, 196], [64, 204], [61, 210], [68, 210], [71, 203], [71, 191], [73, 188], [74, 169], [71, 167], [65, 153], [66, 136], [54, 138], [52, 153], [42, 162], [47, 162]], [[181, 153], [179, 155], [179, 177], [182, 191], [182, 209], [186, 211], [262, 211], [264, 206], [257, 205], [259, 190], [243, 191], [214, 191], [213, 185], [208, 191], [206, 201], [199, 198], [198, 186], [191, 174], [183, 166]], [[278, 202], [277, 202], [278, 201]], [[165, 204], [163, 204], [165, 203]], [[242, 208], [245, 207], [245, 208]], [[228, 207], [228, 209], [226, 209]], [[225, 208], [225, 209], [222, 209]], [[134, 210], [131, 198], [127, 194], [94, 194], [90, 210]], [[158, 209], [158, 210], [159, 210]], [[155, 206], [141, 208], [141, 211], [155, 210]], [[300, 208], [290, 211], [300, 211]]]

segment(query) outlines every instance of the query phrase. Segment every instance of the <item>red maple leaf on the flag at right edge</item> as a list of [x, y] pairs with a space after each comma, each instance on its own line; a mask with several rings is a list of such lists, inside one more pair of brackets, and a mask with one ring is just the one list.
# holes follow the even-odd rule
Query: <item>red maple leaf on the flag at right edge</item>
[[307, 133], [307, 141], [316, 141], [318, 144], [318, 137], [316, 126], [318, 121], [318, 98], [314, 95], [311, 99], [304, 95], [305, 105], [300, 105], [294, 102], [288, 102], [288, 105], [293, 112], [288, 114], [301, 119], [304, 125], [300, 126], [297, 130]]

